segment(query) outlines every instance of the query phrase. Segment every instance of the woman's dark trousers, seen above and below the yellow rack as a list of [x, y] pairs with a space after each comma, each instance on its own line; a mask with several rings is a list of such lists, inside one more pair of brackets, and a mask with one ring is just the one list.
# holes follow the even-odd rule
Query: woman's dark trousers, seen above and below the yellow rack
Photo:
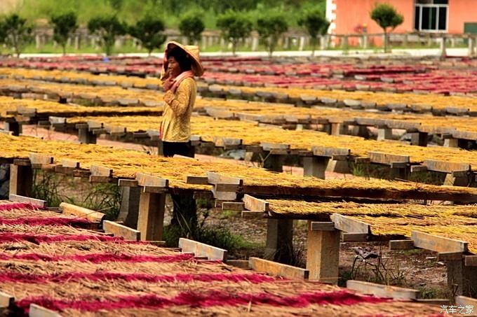
[[[162, 142], [162, 153], [165, 157], [182, 155], [194, 157], [194, 147], [189, 142]], [[197, 225], [196, 201], [192, 195], [171, 194], [174, 210], [171, 225], [179, 225], [184, 233], [194, 234]], [[190, 237], [190, 236], [189, 236]]]

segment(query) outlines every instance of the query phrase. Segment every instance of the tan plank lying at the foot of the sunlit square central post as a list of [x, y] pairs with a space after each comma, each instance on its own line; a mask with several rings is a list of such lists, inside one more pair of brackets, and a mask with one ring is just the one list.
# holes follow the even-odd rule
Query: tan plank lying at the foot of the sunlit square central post
[[271, 276], [283, 276], [286, 279], [306, 280], [309, 277], [309, 271], [307, 269], [284, 265], [261, 258], [249, 258], [248, 265], [254, 271], [264, 272]]

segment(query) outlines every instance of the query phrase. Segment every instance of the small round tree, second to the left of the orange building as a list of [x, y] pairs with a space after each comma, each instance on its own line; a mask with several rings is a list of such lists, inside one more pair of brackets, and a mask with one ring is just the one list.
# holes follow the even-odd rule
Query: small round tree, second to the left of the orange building
[[264, 14], [257, 19], [257, 32], [260, 40], [267, 47], [269, 55], [273, 54], [278, 38], [288, 31], [288, 22], [281, 13]]

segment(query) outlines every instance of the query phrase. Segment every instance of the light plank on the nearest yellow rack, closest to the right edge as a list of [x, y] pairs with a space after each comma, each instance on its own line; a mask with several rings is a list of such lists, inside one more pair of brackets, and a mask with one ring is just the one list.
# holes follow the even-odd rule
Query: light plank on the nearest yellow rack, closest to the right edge
[[414, 246], [424, 248], [434, 252], [467, 252], [469, 251], [468, 242], [455, 239], [438, 237], [424, 232], [411, 232], [411, 239]]

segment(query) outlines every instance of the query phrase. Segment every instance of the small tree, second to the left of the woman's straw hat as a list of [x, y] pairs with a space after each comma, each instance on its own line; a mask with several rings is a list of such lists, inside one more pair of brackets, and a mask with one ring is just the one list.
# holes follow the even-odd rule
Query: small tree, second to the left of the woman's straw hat
[[88, 30], [100, 36], [106, 55], [111, 55], [116, 36], [126, 34], [126, 24], [119, 22], [116, 15], [93, 17], [88, 22]]

